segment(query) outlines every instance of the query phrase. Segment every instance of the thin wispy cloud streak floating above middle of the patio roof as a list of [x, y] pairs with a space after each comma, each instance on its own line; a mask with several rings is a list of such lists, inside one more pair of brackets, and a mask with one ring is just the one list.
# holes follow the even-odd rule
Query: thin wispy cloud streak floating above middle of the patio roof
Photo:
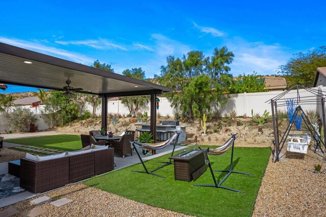
[[125, 50], [127, 49], [124, 46], [112, 43], [106, 39], [99, 39], [99, 40], [80, 40], [80, 41], [55, 41], [58, 44], [62, 45], [85, 45], [89, 46], [95, 49], [120, 49], [120, 50]]

